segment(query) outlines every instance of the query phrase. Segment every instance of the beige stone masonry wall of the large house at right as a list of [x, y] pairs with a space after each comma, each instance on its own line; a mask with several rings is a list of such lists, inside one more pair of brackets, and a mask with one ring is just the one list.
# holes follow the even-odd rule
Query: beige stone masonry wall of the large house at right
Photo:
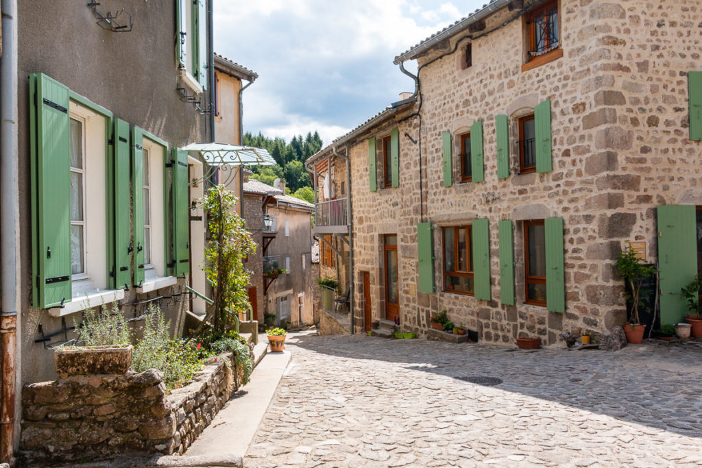
[[[379, 138], [402, 121], [398, 188], [370, 192], [366, 140], [351, 147], [355, 269], [371, 273], [374, 317], [384, 315], [382, 234], [397, 232], [403, 329], [421, 334], [430, 314], [447, 309], [452, 321], [489, 342], [529, 335], [552, 345], [562, 330], [607, 333], [625, 320], [623, 283], [613, 269], [625, 241], [646, 242], [647, 260], [655, 262], [656, 206], [702, 204], [702, 168], [694, 160], [700, 143], [687, 138], [687, 72], [700, 69], [698, 2], [562, 0], [560, 15], [564, 55], [534, 69], [521, 70], [521, 18], [473, 40], [472, 67], [457, 66], [465, 34], [418, 60], [421, 133], [417, 118], [397, 115], [362, 135]], [[456, 52], [440, 58], [457, 41]], [[519, 175], [515, 122], [546, 99], [553, 170]], [[510, 120], [505, 180], [497, 178], [498, 114]], [[456, 183], [456, 137], [475, 121], [483, 123], [485, 180]], [[451, 187], [442, 183], [443, 131], [454, 135]], [[405, 133], [413, 140], [421, 134], [421, 160]], [[380, 174], [380, 158], [378, 166]], [[565, 314], [524, 304], [522, 222], [551, 217], [564, 219]], [[441, 227], [476, 218], [489, 220], [490, 301], [441, 290]], [[434, 294], [416, 293], [420, 220], [436, 227]], [[515, 306], [499, 302], [499, 220], [515, 222]], [[358, 279], [356, 292], [361, 304]]]

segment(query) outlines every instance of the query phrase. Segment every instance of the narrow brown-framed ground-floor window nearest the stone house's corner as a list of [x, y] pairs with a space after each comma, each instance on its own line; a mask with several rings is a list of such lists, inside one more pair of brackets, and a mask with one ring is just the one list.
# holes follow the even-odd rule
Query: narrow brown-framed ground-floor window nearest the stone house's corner
[[524, 302], [546, 305], [546, 239], [543, 220], [524, 222]]

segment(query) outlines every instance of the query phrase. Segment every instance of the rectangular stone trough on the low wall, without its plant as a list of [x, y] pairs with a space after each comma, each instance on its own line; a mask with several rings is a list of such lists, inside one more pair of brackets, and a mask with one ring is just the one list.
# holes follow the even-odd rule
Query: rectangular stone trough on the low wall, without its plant
[[53, 354], [56, 373], [64, 379], [70, 375], [124, 375], [131, 358], [131, 345], [58, 348]]

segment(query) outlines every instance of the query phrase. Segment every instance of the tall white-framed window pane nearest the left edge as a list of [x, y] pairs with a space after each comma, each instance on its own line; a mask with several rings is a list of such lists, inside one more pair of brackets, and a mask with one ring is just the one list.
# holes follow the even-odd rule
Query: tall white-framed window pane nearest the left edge
[[74, 279], [86, 274], [85, 219], [85, 140], [84, 119], [71, 117], [71, 274]]

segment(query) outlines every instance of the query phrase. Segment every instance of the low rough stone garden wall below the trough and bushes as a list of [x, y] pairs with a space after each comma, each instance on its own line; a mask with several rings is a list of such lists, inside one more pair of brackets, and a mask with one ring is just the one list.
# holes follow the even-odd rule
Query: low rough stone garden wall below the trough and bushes
[[25, 385], [20, 450], [28, 464], [182, 454], [240, 386], [233, 368], [232, 354], [221, 354], [170, 394], [155, 369]]

